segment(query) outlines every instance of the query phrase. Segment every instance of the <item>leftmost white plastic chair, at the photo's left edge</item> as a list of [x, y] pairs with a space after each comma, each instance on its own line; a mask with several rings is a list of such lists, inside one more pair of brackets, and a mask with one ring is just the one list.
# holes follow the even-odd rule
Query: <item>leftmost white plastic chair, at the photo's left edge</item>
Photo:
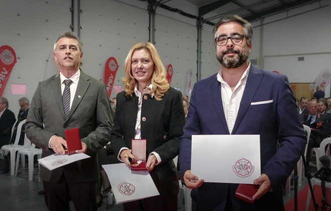
[[[16, 151], [23, 149], [24, 147], [29, 146], [29, 142], [24, 142], [24, 145], [19, 145], [20, 141], [20, 134], [22, 130], [23, 124], [25, 124], [26, 120], [23, 120], [20, 122], [20, 124], [17, 127], [17, 136], [15, 138], [14, 144], [4, 145], [1, 149], [4, 151], [9, 151], [11, 153], [11, 175], [15, 174], [15, 159], [16, 159]], [[22, 166], [25, 166], [25, 160], [22, 159]]]

